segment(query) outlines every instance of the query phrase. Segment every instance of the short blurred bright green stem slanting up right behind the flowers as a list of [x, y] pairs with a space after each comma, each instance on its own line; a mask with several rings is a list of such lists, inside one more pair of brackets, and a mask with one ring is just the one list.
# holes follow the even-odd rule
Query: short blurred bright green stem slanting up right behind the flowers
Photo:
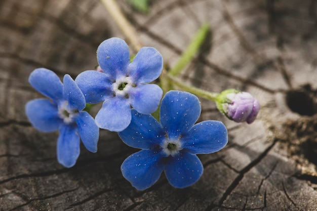
[[195, 36], [191, 39], [190, 44], [181, 55], [176, 65], [169, 71], [172, 76], [177, 76], [191, 62], [197, 51], [204, 43], [210, 27], [208, 24], [203, 24], [202, 27], [196, 32]]

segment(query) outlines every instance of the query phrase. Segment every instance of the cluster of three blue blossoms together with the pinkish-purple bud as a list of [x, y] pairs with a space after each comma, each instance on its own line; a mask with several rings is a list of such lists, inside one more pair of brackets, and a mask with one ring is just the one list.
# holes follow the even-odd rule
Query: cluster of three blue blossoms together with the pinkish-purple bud
[[[193, 94], [169, 91], [162, 99], [162, 89], [151, 83], [163, 69], [162, 55], [154, 48], [142, 48], [130, 62], [125, 41], [110, 38], [98, 47], [97, 60], [97, 70], [86, 70], [75, 80], [66, 74], [63, 83], [45, 68], [29, 76], [31, 86], [49, 99], [29, 101], [26, 115], [39, 131], [59, 131], [58, 161], [73, 166], [80, 154], [80, 140], [96, 152], [99, 129], [106, 129], [141, 149], [121, 166], [123, 176], [138, 190], [153, 185], [163, 171], [177, 188], [199, 180], [203, 165], [196, 154], [213, 153], [227, 144], [224, 124], [214, 120], [196, 123], [201, 105]], [[221, 93], [216, 103], [228, 118], [251, 123], [259, 110], [258, 101], [251, 97]], [[161, 99], [159, 122], [151, 113]], [[97, 103], [102, 107], [93, 118], [85, 108]]]

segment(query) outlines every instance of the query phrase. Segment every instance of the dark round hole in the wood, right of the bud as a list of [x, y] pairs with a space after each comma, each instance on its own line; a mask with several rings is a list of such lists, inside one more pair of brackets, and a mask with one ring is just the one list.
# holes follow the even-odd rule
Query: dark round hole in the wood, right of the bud
[[288, 107], [300, 115], [312, 116], [317, 113], [317, 93], [310, 85], [304, 85], [298, 90], [288, 91], [286, 103]]

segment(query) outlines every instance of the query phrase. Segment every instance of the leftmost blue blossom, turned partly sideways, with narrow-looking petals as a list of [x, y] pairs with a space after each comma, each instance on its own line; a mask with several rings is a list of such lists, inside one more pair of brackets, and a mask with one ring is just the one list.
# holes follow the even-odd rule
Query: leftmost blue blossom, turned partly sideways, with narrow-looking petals
[[99, 128], [94, 118], [83, 111], [85, 97], [75, 81], [66, 74], [63, 83], [51, 70], [35, 69], [29, 76], [31, 86], [50, 98], [27, 102], [25, 112], [32, 125], [41, 132], [59, 130], [57, 159], [65, 167], [75, 164], [80, 154], [80, 139], [85, 147], [97, 151]]

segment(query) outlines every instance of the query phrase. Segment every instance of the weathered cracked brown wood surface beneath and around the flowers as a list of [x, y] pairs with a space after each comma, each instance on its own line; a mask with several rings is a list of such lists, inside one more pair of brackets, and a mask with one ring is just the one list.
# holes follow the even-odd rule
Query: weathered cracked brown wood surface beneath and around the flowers
[[[317, 210], [316, 115], [301, 116], [285, 103], [306, 83], [307, 96], [316, 94], [317, 3], [162, 0], [144, 16], [119, 2], [142, 43], [168, 65], [209, 23], [211, 36], [182, 79], [210, 91], [252, 93], [259, 118], [237, 124], [202, 99], [201, 120], [223, 121], [229, 144], [200, 156], [204, 174], [189, 188], [175, 189], [162, 175], [148, 190], [135, 190], [120, 165], [136, 150], [106, 131], [97, 153], [83, 147], [76, 165], [64, 168], [56, 160], [57, 133], [37, 132], [24, 114], [25, 103], [40, 97], [28, 75], [46, 67], [75, 77], [96, 65], [101, 41], [125, 37], [97, 0], [2, 0], [0, 210]], [[305, 101], [303, 93], [288, 96], [293, 107]], [[314, 105], [297, 109], [314, 113]]]

